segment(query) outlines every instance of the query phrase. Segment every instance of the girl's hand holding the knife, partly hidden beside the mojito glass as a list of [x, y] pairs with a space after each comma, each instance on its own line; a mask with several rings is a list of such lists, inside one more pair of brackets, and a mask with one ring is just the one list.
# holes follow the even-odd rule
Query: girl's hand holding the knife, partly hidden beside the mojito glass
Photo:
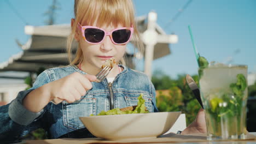
[[205, 134], [207, 133], [205, 111], [200, 109], [197, 113], [196, 119], [187, 128], [182, 131], [182, 135], [189, 134]]

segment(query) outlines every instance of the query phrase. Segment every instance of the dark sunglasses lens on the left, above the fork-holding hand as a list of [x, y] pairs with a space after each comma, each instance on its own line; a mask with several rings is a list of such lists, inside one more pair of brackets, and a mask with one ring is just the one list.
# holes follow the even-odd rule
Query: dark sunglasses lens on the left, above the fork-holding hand
[[100, 41], [104, 38], [104, 32], [97, 28], [86, 28], [84, 30], [84, 36], [86, 40], [91, 43], [100, 43]]

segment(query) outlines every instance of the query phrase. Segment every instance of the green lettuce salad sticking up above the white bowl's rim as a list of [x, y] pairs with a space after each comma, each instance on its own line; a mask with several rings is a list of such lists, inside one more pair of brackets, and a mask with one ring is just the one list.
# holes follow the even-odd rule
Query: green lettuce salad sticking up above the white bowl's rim
[[[139, 95], [138, 103], [134, 110], [121, 111], [119, 108], [115, 108], [115, 109], [108, 110], [108, 111], [101, 111], [100, 113], [98, 113], [97, 116], [121, 115], [121, 114], [130, 114], [130, 113], [149, 113], [149, 111], [146, 110], [145, 100], [142, 97], [143, 97], [143, 94]], [[94, 115], [91, 114], [90, 116], [94, 116]]]

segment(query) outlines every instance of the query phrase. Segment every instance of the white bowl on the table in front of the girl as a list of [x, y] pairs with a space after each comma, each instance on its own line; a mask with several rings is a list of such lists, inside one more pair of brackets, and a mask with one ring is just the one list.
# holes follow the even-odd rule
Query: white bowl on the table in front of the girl
[[107, 140], [124, 140], [153, 138], [165, 134], [179, 115], [181, 115], [180, 111], [79, 118], [96, 137]]

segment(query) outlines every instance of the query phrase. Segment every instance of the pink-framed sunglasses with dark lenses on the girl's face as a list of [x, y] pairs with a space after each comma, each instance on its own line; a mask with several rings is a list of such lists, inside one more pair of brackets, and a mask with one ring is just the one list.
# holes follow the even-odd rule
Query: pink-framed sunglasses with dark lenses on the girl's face
[[81, 26], [78, 23], [78, 28], [82, 31], [83, 38], [90, 44], [99, 44], [106, 36], [110, 36], [110, 39], [115, 45], [126, 44], [130, 41], [133, 34], [133, 28], [121, 27], [107, 32], [102, 28], [94, 26]]

